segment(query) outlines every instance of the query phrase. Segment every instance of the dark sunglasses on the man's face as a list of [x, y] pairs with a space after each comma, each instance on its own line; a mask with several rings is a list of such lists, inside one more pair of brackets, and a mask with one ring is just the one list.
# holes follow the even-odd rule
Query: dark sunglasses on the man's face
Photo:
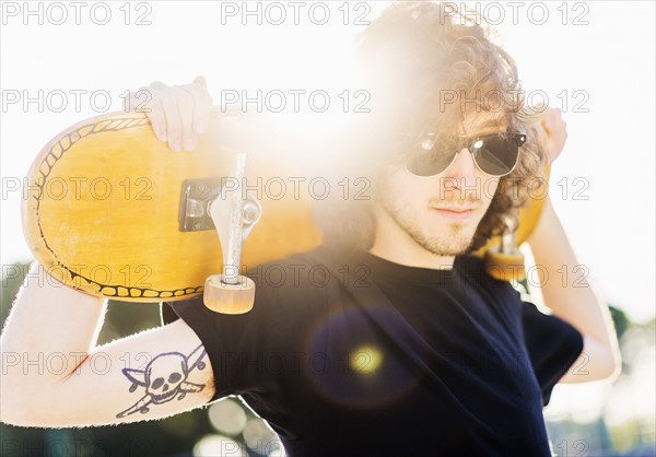
[[526, 134], [518, 132], [490, 134], [475, 140], [429, 133], [414, 147], [406, 161], [406, 168], [415, 176], [438, 175], [455, 162], [458, 152], [467, 148], [481, 172], [501, 177], [515, 169], [519, 148], [525, 142]]

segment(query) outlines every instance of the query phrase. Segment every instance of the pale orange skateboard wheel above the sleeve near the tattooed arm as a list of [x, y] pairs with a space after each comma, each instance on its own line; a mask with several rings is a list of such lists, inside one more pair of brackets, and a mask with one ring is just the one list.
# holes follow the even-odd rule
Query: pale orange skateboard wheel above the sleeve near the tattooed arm
[[250, 278], [238, 277], [237, 284], [226, 284], [222, 274], [212, 274], [206, 279], [203, 303], [214, 313], [245, 314], [255, 302], [255, 282]]

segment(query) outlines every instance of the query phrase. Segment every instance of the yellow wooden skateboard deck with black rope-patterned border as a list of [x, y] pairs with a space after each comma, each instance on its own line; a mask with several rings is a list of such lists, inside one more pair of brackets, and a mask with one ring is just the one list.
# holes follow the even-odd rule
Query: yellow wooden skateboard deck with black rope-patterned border
[[[171, 151], [138, 113], [103, 115], [58, 134], [28, 172], [38, 190], [24, 201], [23, 227], [35, 258], [59, 281], [93, 295], [160, 302], [202, 293], [206, 278], [221, 271], [221, 244], [207, 216], [187, 218], [188, 231], [180, 231], [181, 194], [200, 201], [212, 186], [238, 185], [226, 178], [235, 152], [219, 147], [226, 118], [212, 113], [192, 152]], [[321, 242], [312, 199], [295, 195], [293, 179], [285, 179], [305, 175], [295, 157], [259, 155], [268, 160], [249, 161], [247, 184], [259, 192], [262, 212], [244, 245], [246, 267]]]

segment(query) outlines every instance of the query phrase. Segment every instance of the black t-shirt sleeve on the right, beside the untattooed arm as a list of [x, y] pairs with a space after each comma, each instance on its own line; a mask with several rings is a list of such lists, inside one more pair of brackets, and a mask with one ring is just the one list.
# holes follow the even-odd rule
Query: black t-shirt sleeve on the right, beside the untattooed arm
[[532, 303], [523, 304], [522, 318], [526, 349], [547, 406], [553, 386], [583, 351], [583, 336], [569, 323], [540, 312]]

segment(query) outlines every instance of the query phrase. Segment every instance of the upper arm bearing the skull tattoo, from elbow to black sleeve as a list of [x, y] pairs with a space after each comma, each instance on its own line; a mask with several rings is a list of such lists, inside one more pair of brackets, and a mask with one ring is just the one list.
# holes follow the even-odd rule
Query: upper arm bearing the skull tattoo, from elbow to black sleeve
[[164, 418], [208, 402], [214, 394], [212, 373], [200, 339], [180, 319], [94, 349], [59, 383], [34, 392], [25, 425]]

